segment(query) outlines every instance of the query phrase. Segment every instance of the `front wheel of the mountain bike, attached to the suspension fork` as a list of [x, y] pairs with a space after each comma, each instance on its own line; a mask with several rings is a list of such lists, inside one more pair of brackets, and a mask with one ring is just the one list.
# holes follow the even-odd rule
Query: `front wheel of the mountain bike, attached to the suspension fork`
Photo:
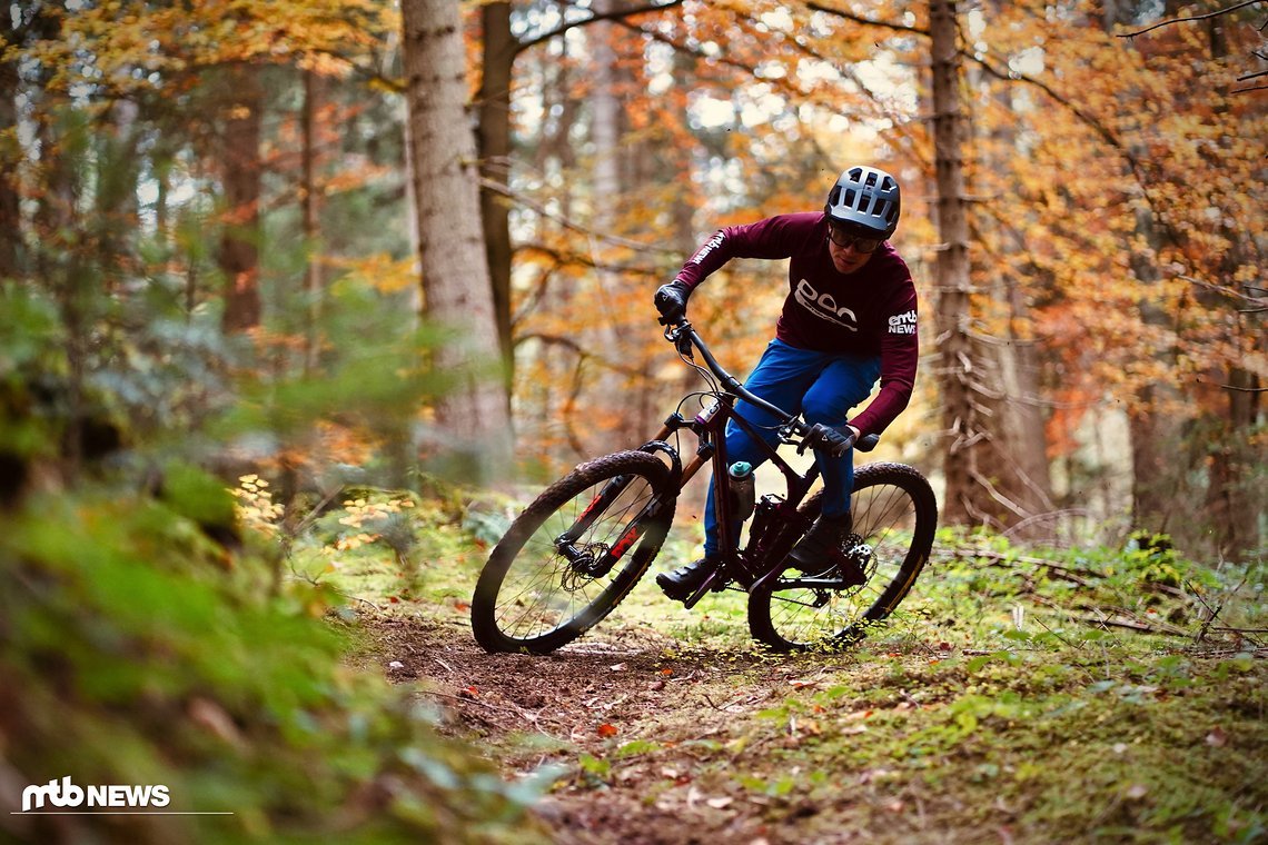
[[661, 550], [677, 490], [647, 452], [582, 464], [511, 523], [472, 599], [487, 651], [545, 654], [572, 642], [629, 594]]

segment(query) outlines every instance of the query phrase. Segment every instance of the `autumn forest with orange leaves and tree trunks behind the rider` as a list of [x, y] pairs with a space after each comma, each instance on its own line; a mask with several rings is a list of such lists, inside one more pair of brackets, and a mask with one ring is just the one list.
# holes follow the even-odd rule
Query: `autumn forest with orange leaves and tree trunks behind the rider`
[[[14, 471], [164, 442], [289, 500], [638, 445], [691, 384], [650, 291], [872, 162], [922, 295], [888, 447], [945, 522], [1262, 546], [1262, 8], [473, 3], [445, 53], [410, 6], [8, 5]], [[455, 76], [458, 141], [427, 123]], [[477, 179], [478, 213], [445, 187]], [[695, 298], [738, 372], [784, 286], [741, 262]]]

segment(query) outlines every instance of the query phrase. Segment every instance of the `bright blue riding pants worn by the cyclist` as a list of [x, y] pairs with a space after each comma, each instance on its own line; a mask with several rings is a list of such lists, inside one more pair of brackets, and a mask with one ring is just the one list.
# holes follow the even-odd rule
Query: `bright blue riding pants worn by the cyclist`
[[[744, 386], [766, 402], [790, 414], [801, 413], [812, 426], [844, 426], [850, 409], [871, 393], [880, 378], [880, 356], [855, 356], [834, 352], [799, 350], [776, 338], [766, 347], [757, 367]], [[739, 400], [735, 410], [748, 421], [767, 443], [777, 445], [779, 421]], [[748, 461], [754, 467], [766, 460], [766, 454], [734, 422], [727, 423], [727, 460]], [[843, 457], [825, 457], [815, 452], [815, 461], [823, 474], [823, 513], [841, 517], [850, 512], [850, 493], [855, 483], [853, 450]], [[733, 526], [732, 536], [739, 535], [741, 523]], [[719, 551], [718, 516], [714, 513], [714, 485], [709, 485], [705, 505], [705, 555]]]

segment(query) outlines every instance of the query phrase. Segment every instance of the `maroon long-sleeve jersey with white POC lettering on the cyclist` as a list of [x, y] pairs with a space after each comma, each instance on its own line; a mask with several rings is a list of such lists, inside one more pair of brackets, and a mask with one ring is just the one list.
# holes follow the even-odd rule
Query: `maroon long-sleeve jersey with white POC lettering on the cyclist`
[[776, 337], [818, 352], [880, 356], [880, 393], [850, 421], [881, 433], [907, 408], [919, 361], [915, 285], [886, 241], [862, 269], [843, 275], [828, 253], [820, 212], [780, 214], [719, 229], [678, 271], [695, 289], [732, 258], [789, 258], [789, 295]]

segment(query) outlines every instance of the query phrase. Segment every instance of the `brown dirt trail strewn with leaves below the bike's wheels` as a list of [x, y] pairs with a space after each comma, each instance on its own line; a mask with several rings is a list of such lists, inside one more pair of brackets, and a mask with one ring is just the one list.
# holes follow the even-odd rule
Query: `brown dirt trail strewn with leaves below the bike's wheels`
[[[507, 777], [558, 764], [538, 815], [557, 842], [860, 841], [822, 829], [825, 807], [737, 787], [753, 759], [747, 717], [832, 668], [756, 650], [683, 652], [645, 630], [591, 632], [547, 656], [489, 655], [458, 619], [377, 618], [375, 660], [440, 704], [446, 730], [487, 749]], [[838, 658], [834, 663], [848, 661]], [[838, 666], [839, 668], [839, 666]], [[809, 674], [810, 677], [803, 677]], [[796, 726], [784, 741], [795, 744]], [[529, 740], [527, 737], [533, 737]], [[624, 755], [620, 749], [642, 749]], [[588, 768], [587, 768], [588, 763]], [[869, 837], [875, 841], [875, 837]]]

